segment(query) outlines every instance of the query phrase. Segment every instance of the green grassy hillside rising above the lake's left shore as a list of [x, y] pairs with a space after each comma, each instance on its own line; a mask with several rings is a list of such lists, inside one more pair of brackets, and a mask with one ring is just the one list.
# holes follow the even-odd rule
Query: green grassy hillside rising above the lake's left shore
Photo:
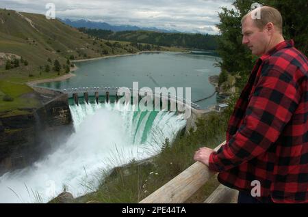
[[[8, 15], [10, 13], [10, 15]], [[14, 53], [22, 56], [29, 62], [29, 66], [4, 70], [1, 67], [0, 78], [14, 81], [29, 81], [38, 78], [55, 77], [57, 73], [44, 73], [39, 66], [45, 66], [58, 59], [60, 64], [66, 63], [66, 57], [74, 55], [77, 59], [86, 57], [100, 57], [103, 50], [112, 50], [102, 41], [100, 44], [93, 45], [92, 38], [80, 33], [77, 29], [68, 27], [58, 20], [47, 20], [40, 14], [21, 13], [33, 21], [36, 29], [29, 23], [10, 10], [0, 10], [0, 18], [5, 22], [0, 28], [0, 48], [3, 53]], [[28, 40], [26, 40], [28, 38]], [[88, 48], [87, 48], [88, 46]], [[60, 50], [60, 53], [57, 53]], [[123, 50], [117, 50], [119, 53]], [[80, 53], [80, 57], [79, 57]], [[42, 72], [40, 76], [39, 72]], [[29, 73], [33, 78], [29, 78]]]

